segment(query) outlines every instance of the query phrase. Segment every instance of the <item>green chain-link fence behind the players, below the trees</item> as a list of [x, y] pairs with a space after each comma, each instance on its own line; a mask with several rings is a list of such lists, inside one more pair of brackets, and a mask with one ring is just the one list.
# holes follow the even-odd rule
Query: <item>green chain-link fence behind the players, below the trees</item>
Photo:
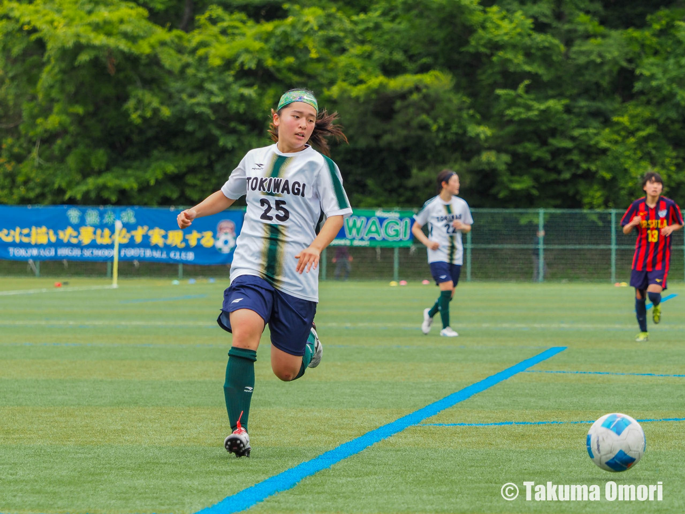
[[[597, 281], [630, 278], [635, 233], [618, 210], [473, 209], [464, 236], [462, 280]], [[673, 233], [669, 280], [684, 280], [682, 230]], [[430, 280], [425, 247], [329, 247], [322, 280]], [[120, 277], [227, 280], [230, 267], [120, 262]], [[0, 260], [4, 276], [111, 276], [111, 262]]]

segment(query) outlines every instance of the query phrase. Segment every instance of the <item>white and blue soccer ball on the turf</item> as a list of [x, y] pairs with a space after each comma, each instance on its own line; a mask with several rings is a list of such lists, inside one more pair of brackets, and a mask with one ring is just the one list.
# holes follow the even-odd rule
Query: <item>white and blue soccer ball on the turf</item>
[[633, 467], [645, 453], [647, 442], [640, 424], [626, 414], [606, 414], [590, 427], [588, 454], [601, 469], [621, 472]]

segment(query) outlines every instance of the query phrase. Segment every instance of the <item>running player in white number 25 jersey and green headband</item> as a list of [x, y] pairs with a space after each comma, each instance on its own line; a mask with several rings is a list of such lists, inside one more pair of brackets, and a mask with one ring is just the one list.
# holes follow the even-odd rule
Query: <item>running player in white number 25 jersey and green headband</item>
[[[284, 381], [300, 378], [321, 361], [321, 341], [313, 326], [319, 301], [319, 257], [349, 216], [347, 194], [324, 136], [345, 138], [319, 112], [309, 90], [281, 97], [269, 129], [274, 145], [247, 152], [221, 191], [178, 215], [180, 228], [213, 215], [246, 195], [247, 212], [236, 241], [231, 285], [224, 292], [217, 322], [232, 332], [223, 386], [232, 434], [227, 452], [249, 456], [247, 421], [255, 385], [254, 363], [266, 323], [271, 330], [271, 369]], [[319, 234], [320, 217], [325, 223]]]

